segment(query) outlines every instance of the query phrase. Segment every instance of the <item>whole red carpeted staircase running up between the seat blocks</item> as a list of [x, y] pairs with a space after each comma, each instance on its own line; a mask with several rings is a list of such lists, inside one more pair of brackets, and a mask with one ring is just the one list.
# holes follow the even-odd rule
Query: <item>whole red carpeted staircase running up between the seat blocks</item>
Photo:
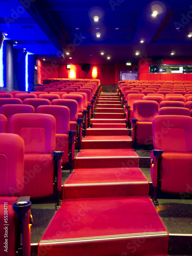
[[101, 93], [63, 202], [38, 255], [167, 255], [168, 234], [125, 128], [116, 93]]

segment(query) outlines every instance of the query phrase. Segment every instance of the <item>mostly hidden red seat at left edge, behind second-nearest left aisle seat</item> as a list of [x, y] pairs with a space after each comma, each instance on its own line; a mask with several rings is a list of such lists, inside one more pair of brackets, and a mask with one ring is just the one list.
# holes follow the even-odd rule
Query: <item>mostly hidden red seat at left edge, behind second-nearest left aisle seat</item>
[[19, 113], [35, 113], [35, 109], [31, 105], [3, 105], [0, 108], [0, 113], [7, 117], [7, 133], [10, 133], [10, 118], [14, 114]]

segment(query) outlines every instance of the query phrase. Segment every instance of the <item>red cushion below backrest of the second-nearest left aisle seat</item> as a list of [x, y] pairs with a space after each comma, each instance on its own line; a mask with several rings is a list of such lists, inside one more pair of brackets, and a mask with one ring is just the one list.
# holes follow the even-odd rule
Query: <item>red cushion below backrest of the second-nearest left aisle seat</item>
[[46, 197], [53, 194], [52, 154], [25, 154], [23, 196]]

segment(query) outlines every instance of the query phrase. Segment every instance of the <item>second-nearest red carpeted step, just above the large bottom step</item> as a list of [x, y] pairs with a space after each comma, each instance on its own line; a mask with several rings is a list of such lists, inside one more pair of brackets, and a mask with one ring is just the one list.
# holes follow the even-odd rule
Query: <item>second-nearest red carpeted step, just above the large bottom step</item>
[[63, 187], [63, 199], [148, 196], [148, 181], [139, 168], [75, 169]]

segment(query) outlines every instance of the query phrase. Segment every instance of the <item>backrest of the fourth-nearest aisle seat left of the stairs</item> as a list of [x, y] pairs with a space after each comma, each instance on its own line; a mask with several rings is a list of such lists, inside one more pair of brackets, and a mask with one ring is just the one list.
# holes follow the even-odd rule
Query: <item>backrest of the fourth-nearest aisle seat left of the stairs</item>
[[52, 105], [67, 106], [70, 110], [70, 121], [77, 121], [78, 118], [78, 103], [74, 99], [54, 99]]

